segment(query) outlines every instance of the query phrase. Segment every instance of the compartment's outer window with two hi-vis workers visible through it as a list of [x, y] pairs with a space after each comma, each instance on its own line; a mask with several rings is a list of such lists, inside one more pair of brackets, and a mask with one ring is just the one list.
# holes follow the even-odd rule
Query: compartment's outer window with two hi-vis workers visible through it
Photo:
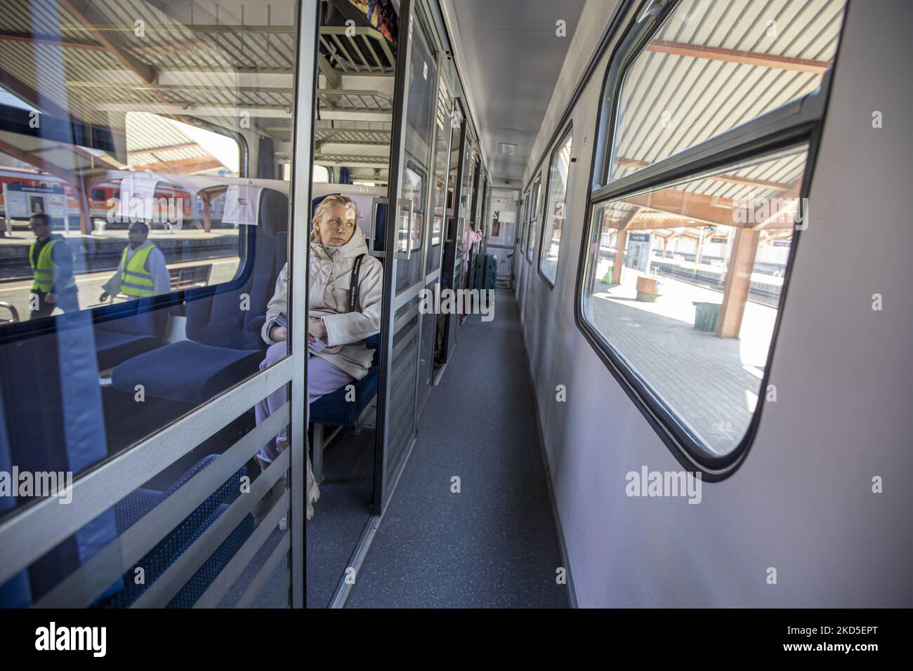
[[[237, 141], [150, 112], [128, 111], [122, 118], [126, 152], [120, 154], [116, 146], [61, 145], [40, 132], [9, 133], [0, 147], [6, 259], [0, 282], [8, 322], [236, 276], [238, 228], [223, 220], [226, 186], [219, 180], [239, 172]], [[58, 120], [46, 124], [53, 130]], [[56, 150], [25, 152], [30, 142]], [[67, 152], [89, 154], [96, 166], [74, 173]]]

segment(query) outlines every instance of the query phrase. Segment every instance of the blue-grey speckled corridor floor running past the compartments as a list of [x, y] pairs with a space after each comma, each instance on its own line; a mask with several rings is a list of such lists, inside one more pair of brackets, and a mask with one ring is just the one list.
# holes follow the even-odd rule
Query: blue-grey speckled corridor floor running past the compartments
[[568, 607], [517, 299], [494, 314], [459, 330], [347, 607]]

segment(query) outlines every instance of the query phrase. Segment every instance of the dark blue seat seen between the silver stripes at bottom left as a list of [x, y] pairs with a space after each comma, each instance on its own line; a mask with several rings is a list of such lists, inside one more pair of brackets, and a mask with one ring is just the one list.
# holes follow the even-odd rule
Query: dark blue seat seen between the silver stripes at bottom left
[[[209, 466], [218, 457], [215, 455], [205, 456], [203, 459], [194, 464], [190, 470], [173, 484], [167, 491], [155, 491], [153, 489], [136, 489], [128, 496], [124, 497], [114, 506], [115, 519], [117, 519], [118, 535], [122, 534], [144, 515], [149, 513], [152, 508], [162, 503], [165, 498], [170, 497], [175, 491], [183, 487], [192, 477]], [[194, 511], [184, 518], [163, 540], [161, 540], [152, 550], [147, 552], [140, 561], [124, 572], [121, 577], [123, 587], [114, 593], [108, 593], [93, 603], [97, 608], [127, 608], [142, 595], [142, 592], [152, 585], [164, 571], [171, 566], [174, 561], [197, 540], [204, 531], [208, 529], [215, 519], [221, 515], [228, 506], [223, 503], [229, 498], [240, 486], [241, 477], [247, 474], [247, 468], [241, 467], [236, 473], [229, 477], [219, 488], [215, 490], [206, 500], [201, 503]], [[254, 529], [254, 519], [247, 515], [236, 529], [229, 534], [228, 538], [223, 541], [213, 555], [205, 564], [194, 574], [189, 582], [184, 585], [181, 592], [174, 597], [169, 606], [175, 603], [185, 604], [188, 607], [193, 605], [200, 594], [205, 592], [210, 583], [215, 580], [218, 572], [224, 568], [225, 564], [235, 554], [244, 540], [250, 536]], [[145, 582], [136, 584], [134, 582], [134, 573], [137, 567], [142, 567], [144, 571]], [[193, 599], [191, 601], [191, 599]], [[188, 603], [189, 602], [189, 603]]]

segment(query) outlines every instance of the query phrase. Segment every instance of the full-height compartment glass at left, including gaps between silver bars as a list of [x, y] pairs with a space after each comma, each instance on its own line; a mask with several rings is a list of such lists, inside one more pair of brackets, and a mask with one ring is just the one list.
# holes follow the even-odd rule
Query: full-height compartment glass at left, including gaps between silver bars
[[[0, 462], [21, 472], [79, 479], [110, 465], [124, 448], [255, 375], [266, 358], [262, 320], [287, 248], [289, 183], [273, 171], [289, 155], [282, 146], [294, 119], [288, 54], [296, 52], [299, 6], [248, 5], [244, 17], [238, 5], [221, 5], [218, 16], [213, 8], [146, 0], [4, 5], [0, 62], [24, 65], [0, 89]], [[144, 35], [132, 29], [137, 17]], [[199, 29], [216, 24], [230, 26], [236, 42]], [[274, 88], [244, 83], [261, 70], [273, 73]], [[246, 147], [258, 148], [261, 161], [247, 165]], [[274, 153], [269, 161], [265, 152]], [[268, 179], [259, 179], [261, 165]], [[277, 352], [274, 360], [287, 352], [284, 342]], [[262, 523], [257, 508], [266, 512], [247, 501], [238, 508], [250, 514], [219, 520], [224, 534], [213, 540], [221, 545], [208, 554], [201, 545], [187, 550], [237, 502], [242, 477], [251, 491], [268, 488], [249, 461], [253, 443], [229, 450], [257, 424], [254, 408], [231, 420], [193, 438], [185, 448], [194, 450], [180, 458], [138, 447], [150, 449], [139, 473], [148, 480], [34, 558], [16, 576], [26, 585], [16, 603], [58, 592], [79, 605], [138, 604], [184, 551], [214, 569], [196, 572], [194, 582], [203, 573], [211, 582]], [[212, 489], [194, 489], [195, 508], [180, 515], [157, 508], [215, 463], [224, 475]], [[139, 479], [135, 465], [118, 473]], [[32, 503], [22, 497], [15, 506]], [[277, 519], [283, 511], [274, 512]], [[159, 513], [168, 525], [149, 517]], [[169, 529], [166, 538], [134, 526], [151, 519]], [[119, 538], [128, 529], [129, 549]], [[105, 547], [113, 554], [96, 554]], [[138, 568], [142, 584], [133, 580]], [[156, 605], [190, 605], [205, 589], [169, 582]]]

